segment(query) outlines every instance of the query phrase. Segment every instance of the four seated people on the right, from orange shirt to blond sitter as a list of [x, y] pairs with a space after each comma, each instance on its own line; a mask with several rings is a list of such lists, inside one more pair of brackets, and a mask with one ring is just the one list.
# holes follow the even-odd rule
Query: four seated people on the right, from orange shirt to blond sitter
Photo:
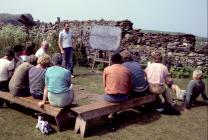
[[161, 52], [154, 52], [152, 57], [153, 63], [143, 70], [126, 50], [112, 55], [112, 65], [106, 67], [103, 72], [105, 100], [119, 103], [128, 100], [129, 95], [138, 97], [152, 93], [162, 95], [164, 105], [175, 106], [176, 103], [167, 89], [169, 87], [175, 90], [177, 97], [184, 102], [185, 111], [190, 109], [199, 94], [208, 103], [201, 70], [193, 72], [193, 79], [188, 83], [186, 92], [180, 92], [182, 90], [173, 83], [168, 68], [162, 63]]

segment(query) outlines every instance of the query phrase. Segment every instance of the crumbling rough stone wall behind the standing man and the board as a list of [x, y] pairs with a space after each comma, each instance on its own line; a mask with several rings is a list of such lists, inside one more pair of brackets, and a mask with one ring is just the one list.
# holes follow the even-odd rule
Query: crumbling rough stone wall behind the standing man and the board
[[[171, 65], [182, 64], [183, 66], [198, 67], [208, 69], [208, 47], [207, 42], [204, 48], [195, 48], [196, 38], [191, 34], [165, 34], [165, 33], [145, 33], [140, 29], [133, 29], [133, 23], [129, 20], [123, 21], [60, 21], [55, 23], [40, 23], [30, 30], [34, 36], [44, 36], [47, 38], [53, 34], [53, 40], [57, 41], [58, 32], [62, 30], [64, 22], [71, 25], [74, 32], [74, 39], [81, 41], [86, 47], [88, 56], [92, 55], [89, 45], [90, 30], [93, 25], [117, 26], [122, 29], [122, 40], [120, 50], [128, 49], [132, 52], [134, 59], [141, 63], [146, 63], [151, 59], [151, 53], [157, 49], [164, 52], [164, 56], [171, 60]], [[31, 33], [32, 34], [32, 33]]]

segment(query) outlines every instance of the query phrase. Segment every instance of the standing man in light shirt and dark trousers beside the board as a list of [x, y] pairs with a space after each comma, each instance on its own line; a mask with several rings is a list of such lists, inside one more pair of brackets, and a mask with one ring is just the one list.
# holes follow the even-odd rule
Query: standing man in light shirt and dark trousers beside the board
[[58, 45], [63, 57], [64, 68], [71, 71], [73, 78], [73, 40], [72, 32], [69, 31], [69, 23], [64, 23], [64, 29], [59, 33]]

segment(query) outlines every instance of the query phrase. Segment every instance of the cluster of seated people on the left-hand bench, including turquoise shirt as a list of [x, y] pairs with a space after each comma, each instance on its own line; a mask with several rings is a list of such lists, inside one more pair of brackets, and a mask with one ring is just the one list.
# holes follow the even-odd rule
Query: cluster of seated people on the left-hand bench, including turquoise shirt
[[[30, 45], [34, 46], [34, 43]], [[31, 95], [40, 99], [40, 107], [47, 98], [53, 106], [70, 105], [74, 99], [71, 73], [62, 67], [62, 55], [54, 53], [50, 57], [46, 54], [47, 47], [48, 43], [43, 41], [36, 53], [24, 53], [23, 58], [23, 46], [7, 49], [0, 59], [0, 91], [10, 92], [14, 96]]]

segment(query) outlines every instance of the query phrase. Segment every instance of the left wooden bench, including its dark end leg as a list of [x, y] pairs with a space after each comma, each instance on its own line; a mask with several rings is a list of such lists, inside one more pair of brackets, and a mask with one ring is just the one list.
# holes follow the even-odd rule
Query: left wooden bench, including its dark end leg
[[56, 125], [59, 131], [62, 131], [64, 129], [65, 124], [69, 119], [67, 116], [67, 109], [54, 107], [50, 104], [45, 104], [43, 108], [40, 108], [38, 106], [38, 102], [40, 102], [40, 100], [34, 99], [32, 96], [17, 97], [13, 96], [9, 92], [0, 91], [0, 98], [55, 117]]

